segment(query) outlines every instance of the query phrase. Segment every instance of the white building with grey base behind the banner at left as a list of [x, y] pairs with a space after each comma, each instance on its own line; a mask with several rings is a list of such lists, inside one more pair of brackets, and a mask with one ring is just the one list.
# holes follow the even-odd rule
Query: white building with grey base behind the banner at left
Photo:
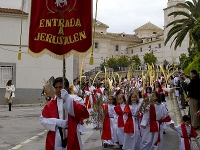
[[[26, 8], [30, 8], [29, 3]], [[29, 10], [26, 9], [27, 12]], [[22, 60], [18, 60], [22, 12], [17, 9], [0, 8], [0, 104], [6, 104], [5, 86], [10, 79], [16, 86], [14, 104], [38, 103], [44, 79], [63, 75], [62, 60], [56, 60], [48, 55], [33, 58], [27, 53], [29, 33], [27, 12], [23, 14], [22, 20]], [[77, 61], [74, 60], [73, 56], [66, 60], [66, 77], [70, 81], [78, 72], [74, 67]]]

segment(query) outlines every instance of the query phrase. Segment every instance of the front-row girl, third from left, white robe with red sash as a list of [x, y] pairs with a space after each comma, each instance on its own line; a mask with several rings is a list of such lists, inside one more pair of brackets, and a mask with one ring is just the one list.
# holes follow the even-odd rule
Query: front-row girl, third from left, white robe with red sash
[[140, 150], [140, 113], [139, 97], [137, 93], [131, 93], [128, 97], [128, 105], [124, 109], [124, 150]]

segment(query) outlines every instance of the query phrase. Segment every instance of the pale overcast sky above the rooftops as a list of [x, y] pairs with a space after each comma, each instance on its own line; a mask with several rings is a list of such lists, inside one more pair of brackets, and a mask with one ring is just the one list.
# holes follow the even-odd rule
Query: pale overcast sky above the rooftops
[[[0, 7], [20, 9], [22, 0], [0, 0]], [[108, 32], [133, 34], [151, 22], [163, 29], [168, 0], [98, 0], [97, 20], [109, 26]], [[93, 0], [93, 14], [95, 13]]]

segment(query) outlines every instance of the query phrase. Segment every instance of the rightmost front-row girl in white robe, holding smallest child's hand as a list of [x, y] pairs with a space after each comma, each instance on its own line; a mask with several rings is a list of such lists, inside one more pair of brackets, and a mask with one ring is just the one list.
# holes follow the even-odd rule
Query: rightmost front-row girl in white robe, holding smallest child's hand
[[173, 123], [166, 108], [161, 104], [160, 94], [153, 92], [150, 98], [150, 105], [146, 108], [141, 122], [143, 129], [141, 150], [163, 149], [164, 122], [167, 122], [168, 125]]

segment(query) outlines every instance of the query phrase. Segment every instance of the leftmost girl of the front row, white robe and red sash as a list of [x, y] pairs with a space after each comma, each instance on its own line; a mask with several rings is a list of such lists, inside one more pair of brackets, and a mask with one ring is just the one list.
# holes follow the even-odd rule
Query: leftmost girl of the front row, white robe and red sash
[[102, 127], [102, 140], [103, 146], [106, 148], [107, 146], [114, 145], [116, 141], [116, 133], [115, 133], [115, 120], [114, 120], [114, 107], [116, 104], [116, 100], [114, 96], [109, 96], [106, 100], [106, 104], [102, 105], [102, 111], [104, 115], [103, 127]]

